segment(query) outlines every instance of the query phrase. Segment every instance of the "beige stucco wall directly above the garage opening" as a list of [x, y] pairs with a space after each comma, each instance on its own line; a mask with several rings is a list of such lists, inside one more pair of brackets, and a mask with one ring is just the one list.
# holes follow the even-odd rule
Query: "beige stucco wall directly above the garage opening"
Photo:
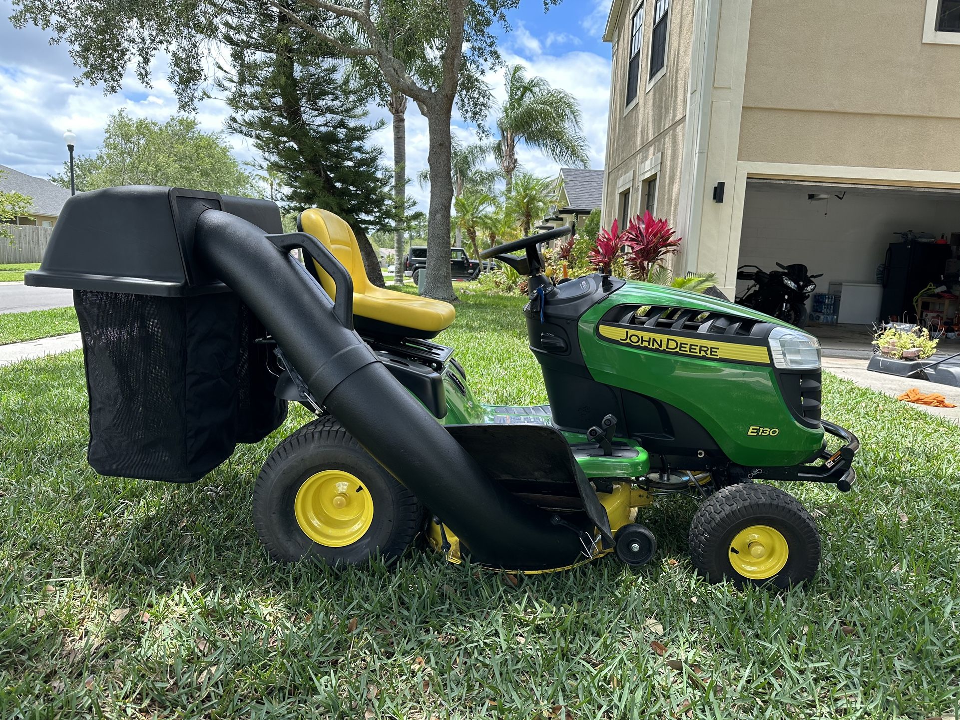
[[960, 45], [925, 0], [753, 0], [739, 159], [960, 170]]

